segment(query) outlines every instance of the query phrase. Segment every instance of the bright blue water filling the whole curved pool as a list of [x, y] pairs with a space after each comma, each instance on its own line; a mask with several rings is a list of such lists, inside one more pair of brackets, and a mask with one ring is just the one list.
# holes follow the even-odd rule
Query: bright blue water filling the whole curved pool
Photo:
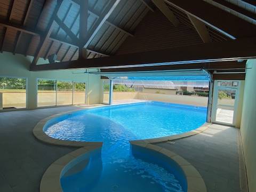
[[64, 191], [174, 192], [186, 191], [178, 166], [156, 160], [162, 157], [154, 161], [143, 150], [131, 153], [129, 140], [188, 132], [205, 121], [204, 107], [143, 102], [63, 115], [47, 122], [44, 131], [61, 140], [103, 141], [101, 155], [81, 172], [61, 178]]

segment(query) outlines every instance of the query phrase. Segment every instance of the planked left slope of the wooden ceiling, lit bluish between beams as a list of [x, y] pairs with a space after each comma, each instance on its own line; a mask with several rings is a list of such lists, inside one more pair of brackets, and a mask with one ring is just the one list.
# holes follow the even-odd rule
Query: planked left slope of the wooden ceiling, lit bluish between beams
[[[80, 1], [64, 0], [60, 7], [57, 7], [57, 2], [56, 0], [1, 1], [0, 50], [34, 56], [37, 54], [38, 46], [43, 45], [38, 57], [47, 58], [55, 53], [59, 61], [76, 60], [78, 46], [73, 39], [79, 38]], [[88, 31], [93, 29], [111, 2], [113, 1], [89, 0]], [[134, 29], [151, 9], [149, 8], [145, 1], [120, 1], [91, 39], [87, 46], [87, 58], [115, 54], [125, 38], [133, 36]], [[56, 9], [58, 12], [54, 18]], [[47, 30], [51, 30], [50, 34], [47, 34]], [[49, 37], [42, 44], [45, 35]]]

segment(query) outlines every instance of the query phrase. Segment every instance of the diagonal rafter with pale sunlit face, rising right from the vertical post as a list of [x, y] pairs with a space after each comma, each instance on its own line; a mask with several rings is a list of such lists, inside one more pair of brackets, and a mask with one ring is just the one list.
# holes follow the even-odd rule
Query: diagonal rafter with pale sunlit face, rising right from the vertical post
[[89, 33], [86, 36], [86, 41], [84, 43], [84, 47], [87, 47], [94, 36], [98, 33], [101, 26], [105, 23], [105, 21], [109, 18], [110, 14], [115, 10], [117, 5], [121, 2], [121, 0], [111, 0], [110, 3], [107, 5], [105, 11], [100, 15], [99, 19], [95, 22], [92, 29], [89, 31]]

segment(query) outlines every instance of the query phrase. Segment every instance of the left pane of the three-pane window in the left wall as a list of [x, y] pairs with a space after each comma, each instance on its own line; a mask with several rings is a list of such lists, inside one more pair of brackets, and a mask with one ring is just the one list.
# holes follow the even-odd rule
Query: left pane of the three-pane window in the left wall
[[56, 105], [56, 81], [38, 79], [37, 81], [37, 107]]

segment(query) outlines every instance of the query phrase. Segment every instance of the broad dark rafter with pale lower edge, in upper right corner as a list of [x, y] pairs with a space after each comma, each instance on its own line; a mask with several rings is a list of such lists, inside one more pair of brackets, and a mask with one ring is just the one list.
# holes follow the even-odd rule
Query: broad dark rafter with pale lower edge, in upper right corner
[[202, 0], [164, 0], [231, 39], [254, 37], [256, 26]]

